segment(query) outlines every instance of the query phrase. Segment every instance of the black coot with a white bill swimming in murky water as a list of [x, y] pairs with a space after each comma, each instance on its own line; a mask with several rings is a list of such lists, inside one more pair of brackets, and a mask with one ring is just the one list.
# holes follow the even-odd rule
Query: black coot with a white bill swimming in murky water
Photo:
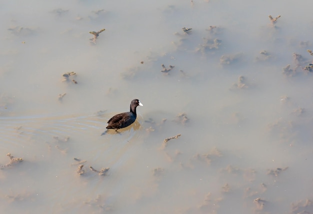
[[104, 135], [108, 129], [115, 129], [115, 131], [117, 131], [118, 129], [125, 128], [131, 125], [133, 122], [135, 122], [137, 117], [136, 114], [137, 106], [143, 105], [142, 103], [140, 103], [138, 99], [131, 100], [129, 112], [116, 114], [113, 117], [111, 117], [107, 121], [108, 125], [106, 126], [106, 130], [101, 135]]

